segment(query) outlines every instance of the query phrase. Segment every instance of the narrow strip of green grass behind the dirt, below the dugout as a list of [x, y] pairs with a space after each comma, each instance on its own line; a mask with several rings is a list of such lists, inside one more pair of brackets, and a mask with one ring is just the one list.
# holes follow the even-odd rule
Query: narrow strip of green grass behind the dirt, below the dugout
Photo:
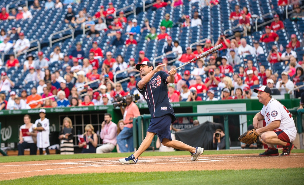
[[[258, 154], [264, 152], [261, 150], [206, 150], [204, 155], [212, 154]], [[304, 150], [294, 149], [292, 153], [304, 153]], [[110, 157], [126, 157], [131, 153], [107, 153], [107, 154], [74, 154], [74, 155], [22, 155], [22, 156], [3, 156], [0, 157], [1, 162], [24, 162], [24, 161], [41, 161], [41, 160], [59, 160], [59, 159], [92, 159], [92, 158], [110, 158]], [[189, 155], [187, 151], [175, 152], [144, 152], [141, 156], [166, 156], [166, 155]]]

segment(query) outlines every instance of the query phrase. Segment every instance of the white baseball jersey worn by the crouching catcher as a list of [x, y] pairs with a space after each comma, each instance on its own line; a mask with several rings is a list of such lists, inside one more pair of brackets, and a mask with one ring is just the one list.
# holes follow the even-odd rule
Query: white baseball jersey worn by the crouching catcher
[[263, 106], [260, 113], [264, 116], [266, 125], [270, 124], [272, 121], [281, 120], [281, 124], [278, 128], [288, 135], [291, 142], [295, 140], [297, 134], [295, 122], [287, 108], [278, 102], [278, 100], [271, 98], [267, 106]]

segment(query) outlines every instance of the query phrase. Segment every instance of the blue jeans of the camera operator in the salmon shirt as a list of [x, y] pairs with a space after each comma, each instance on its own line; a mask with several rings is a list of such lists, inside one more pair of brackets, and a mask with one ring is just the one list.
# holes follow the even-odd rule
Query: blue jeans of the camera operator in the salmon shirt
[[[125, 144], [126, 141], [128, 144], [128, 148]], [[117, 144], [119, 146], [120, 152], [134, 152], [133, 129], [123, 127], [123, 130], [117, 136]]]

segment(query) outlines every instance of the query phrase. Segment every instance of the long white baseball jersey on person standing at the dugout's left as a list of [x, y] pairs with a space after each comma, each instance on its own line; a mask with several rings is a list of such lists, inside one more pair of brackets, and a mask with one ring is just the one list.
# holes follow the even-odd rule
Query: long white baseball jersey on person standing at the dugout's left
[[44, 118], [41, 121], [41, 118], [35, 121], [35, 126], [40, 123], [41, 127], [43, 127], [44, 131], [37, 132], [37, 147], [38, 148], [47, 148], [50, 146], [50, 120]]

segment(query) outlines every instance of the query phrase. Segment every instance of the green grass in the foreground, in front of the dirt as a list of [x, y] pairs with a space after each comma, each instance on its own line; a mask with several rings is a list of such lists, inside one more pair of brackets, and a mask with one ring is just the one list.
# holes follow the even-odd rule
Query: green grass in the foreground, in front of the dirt
[[[267, 166], [265, 166], [267, 167]], [[0, 181], [2, 185], [16, 184], [303, 184], [304, 168], [203, 170], [147, 173], [82, 173], [46, 175]]]

